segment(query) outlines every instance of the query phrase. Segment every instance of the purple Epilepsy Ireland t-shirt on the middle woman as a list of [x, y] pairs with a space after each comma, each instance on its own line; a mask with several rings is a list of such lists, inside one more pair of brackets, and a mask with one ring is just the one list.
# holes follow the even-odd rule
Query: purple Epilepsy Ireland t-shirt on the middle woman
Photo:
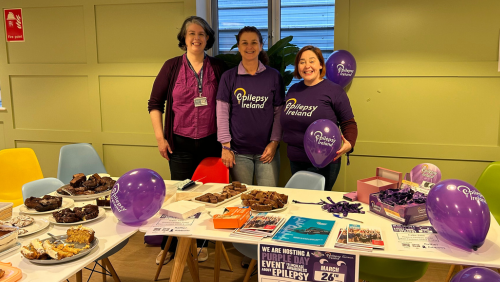
[[262, 154], [271, 141], [274, 107], [283, 105], [285, 87], [280, 73], [266, 66], [255, 75], [226, 71], [219, 82], [217, 100], [229, 103], [231, 148], [239, 154]]

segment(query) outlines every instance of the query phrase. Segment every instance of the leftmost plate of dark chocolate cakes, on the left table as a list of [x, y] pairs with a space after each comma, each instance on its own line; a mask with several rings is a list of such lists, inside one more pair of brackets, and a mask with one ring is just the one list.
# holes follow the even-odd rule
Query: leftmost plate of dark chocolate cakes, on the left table
[[72, 207], [74, 203], [73, 199], [64, 199], [50, 195], [45, 195], [41, 198], [29, 197], [24, 201], [24, 205], [19, 207], [19, 211], [34, 215], [45, 214]]

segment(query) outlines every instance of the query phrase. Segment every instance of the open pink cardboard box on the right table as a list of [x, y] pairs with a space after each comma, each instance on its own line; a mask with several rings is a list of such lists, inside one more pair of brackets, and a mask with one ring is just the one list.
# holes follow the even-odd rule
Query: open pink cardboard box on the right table
[[370, 194], [387, 189], [399, 189], [403, 174], [394, 170], [377, 167], [377, 176], [358, 180], [358, 201], [368, 204]]

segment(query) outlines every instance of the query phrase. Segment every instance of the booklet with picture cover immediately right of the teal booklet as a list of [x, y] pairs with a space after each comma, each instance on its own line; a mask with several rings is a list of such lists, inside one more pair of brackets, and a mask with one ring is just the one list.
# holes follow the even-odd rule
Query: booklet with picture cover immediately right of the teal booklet
[[347, 228], [347, 244], [384, 249], [384, 240], [380, 228], [360, 224], [349, 224]]

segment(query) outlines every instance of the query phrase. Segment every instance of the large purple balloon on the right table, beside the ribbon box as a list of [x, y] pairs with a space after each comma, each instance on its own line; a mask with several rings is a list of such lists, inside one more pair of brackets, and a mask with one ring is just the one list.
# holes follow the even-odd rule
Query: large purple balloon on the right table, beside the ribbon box
[[427, 195], [427, 216], [436, 231], [451, 243], [476, 251], [490, 229], [490, 209], [469, 183], [447, 179]]

